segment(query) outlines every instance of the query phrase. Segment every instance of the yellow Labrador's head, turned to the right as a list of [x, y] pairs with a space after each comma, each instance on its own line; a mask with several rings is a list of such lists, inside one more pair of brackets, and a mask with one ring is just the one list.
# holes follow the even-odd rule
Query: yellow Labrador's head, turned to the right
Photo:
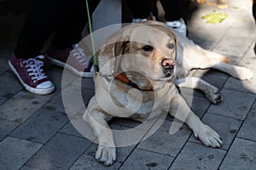
[[108, 71], [123, 72], [132, 82], [148, 88], [148, 80], [160, 82], [174, 76], [176, 53], [177, 39], [171, 29], [159, 22], [145, 22], [115, 33], [98, 59], [100, 67], [112, 59]]

